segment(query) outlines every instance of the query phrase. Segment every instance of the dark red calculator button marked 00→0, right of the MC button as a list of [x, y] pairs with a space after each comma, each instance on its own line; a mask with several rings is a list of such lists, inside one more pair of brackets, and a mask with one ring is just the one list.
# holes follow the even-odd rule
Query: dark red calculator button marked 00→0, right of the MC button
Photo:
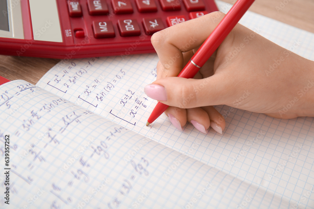
[[118, 28], [121, 36], [140, 35], [141, 29], [136, 19], [118, 20]]

